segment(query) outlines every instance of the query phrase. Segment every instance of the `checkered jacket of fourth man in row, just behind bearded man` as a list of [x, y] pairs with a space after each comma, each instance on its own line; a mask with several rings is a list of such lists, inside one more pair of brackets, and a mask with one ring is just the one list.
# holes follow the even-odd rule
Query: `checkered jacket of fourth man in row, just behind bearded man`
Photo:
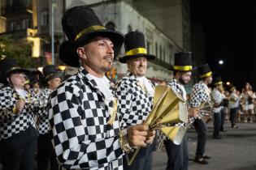
[[210, 90], [205, 83], [200, 81], [193, 86], [189, 104], [191, 107], [197, 108], [206, 101], [210, 102]]

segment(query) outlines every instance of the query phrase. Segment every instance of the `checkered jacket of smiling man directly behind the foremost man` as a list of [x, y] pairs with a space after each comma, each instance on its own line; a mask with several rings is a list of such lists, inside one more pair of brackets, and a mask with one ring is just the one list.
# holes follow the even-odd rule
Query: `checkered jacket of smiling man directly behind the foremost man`
[[[151, 82], [150, 84], [154, 88]], [[120, 104], [119, 113], [127, 125], [137, 125], [145, 121], [153, 107], [153, 96], [148, 95], [145, 87], [141, 87], [133, 74], [116, 83], [115, 93]]]

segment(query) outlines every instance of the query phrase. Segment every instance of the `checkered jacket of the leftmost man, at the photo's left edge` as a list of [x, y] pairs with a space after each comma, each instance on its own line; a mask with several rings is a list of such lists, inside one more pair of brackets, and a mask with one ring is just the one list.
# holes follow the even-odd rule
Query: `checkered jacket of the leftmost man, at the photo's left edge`
[[[32, 104], [25, 104], [21, 113], [13, 113], [17, 97], [17, 93], [10, 86], [0, 89], [0, 140], [19, 134], [27, 130], [30, 125], [35, 127]], [[25, 100], [28, 101], [31, 98], [33, 96]]]

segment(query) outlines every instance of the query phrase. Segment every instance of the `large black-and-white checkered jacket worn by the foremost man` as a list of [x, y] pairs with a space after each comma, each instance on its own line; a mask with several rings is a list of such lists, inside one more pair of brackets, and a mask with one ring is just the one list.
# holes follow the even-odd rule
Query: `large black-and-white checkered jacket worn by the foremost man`
[[63, 168], [123, 169], [119, 130], [124, 126], [118, 115], [107, 124], [112, 107], [113, 100], [105, 103], [97, 83], [82, 67], [52, 92], [50, 138]]

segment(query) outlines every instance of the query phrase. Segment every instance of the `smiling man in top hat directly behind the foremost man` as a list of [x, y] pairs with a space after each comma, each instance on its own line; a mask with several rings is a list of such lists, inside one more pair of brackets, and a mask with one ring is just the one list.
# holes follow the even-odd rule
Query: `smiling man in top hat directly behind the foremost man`
[[[119, 113], [126, 125], [138, 125], [145, 121], [153, 107], [154, 86], [146, 79], [145, 72], [147, 60], [153, 60], [155, 57], [146, 52], [145, 36], [142, 32], [128, 32], [125, 35], [124, 47], [125, 56], [119, 57], [119, 62], [127, 63], [128, 75], [116, 84], [115, 92], [120, 104]], [[153, 151], [154, 145], [141, 148], [130, 166], [126, 155], [124, 170], [150, 170]]]

